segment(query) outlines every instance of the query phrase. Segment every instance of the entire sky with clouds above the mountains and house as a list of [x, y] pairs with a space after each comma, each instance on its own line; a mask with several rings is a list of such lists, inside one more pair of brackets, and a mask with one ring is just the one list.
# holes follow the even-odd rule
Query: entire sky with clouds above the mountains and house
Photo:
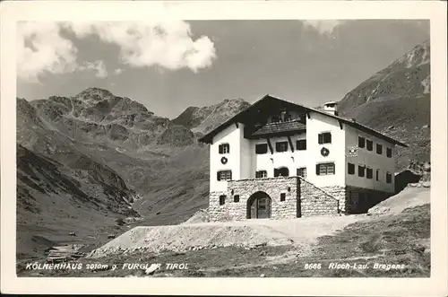
[[99, 87], [167, 118], [265, 94], [314, 107], [427, 39], [417, 20], [21, 22], [17, 97]]

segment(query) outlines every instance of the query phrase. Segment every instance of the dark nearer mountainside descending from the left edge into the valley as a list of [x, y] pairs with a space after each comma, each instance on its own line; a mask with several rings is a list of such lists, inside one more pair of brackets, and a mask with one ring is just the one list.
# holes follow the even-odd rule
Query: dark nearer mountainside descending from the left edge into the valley
[[139, 215], [132, 207], [137, 192], [115, 170], [27, 100], [18, 99], [16, 110], [18, 255], [39, 255], [71, 232], [84, 242], [104, 237], [99, 230], [114, 226], [113, 218]]

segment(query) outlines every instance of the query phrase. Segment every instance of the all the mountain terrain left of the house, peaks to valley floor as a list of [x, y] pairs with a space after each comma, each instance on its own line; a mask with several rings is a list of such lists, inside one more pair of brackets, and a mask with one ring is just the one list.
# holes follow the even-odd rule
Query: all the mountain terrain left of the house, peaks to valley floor
[[[203, 119], [210, 126], [244, 107], [226, 100]], [[194, 132], [106, 90], [17, 99], [17, 144], [21, 257], [72, 231], [104, 237], [127, 216], [180, 223], [208, 203], [208, 149]]]

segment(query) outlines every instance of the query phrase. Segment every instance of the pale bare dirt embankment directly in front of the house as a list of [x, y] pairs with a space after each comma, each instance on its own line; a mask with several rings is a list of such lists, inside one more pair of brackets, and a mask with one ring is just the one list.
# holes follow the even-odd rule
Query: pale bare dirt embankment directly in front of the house
[[185, 223], [169, 226], [140, 226], [126, 231], [95, 250], [90, 257], [139, 250], [162, 252], [217, 247], [294, 245], [307, 255], [315, 240], [366, 220], [366, 215], [320, 216], [289, 220], [247, 220], [226, 223]]

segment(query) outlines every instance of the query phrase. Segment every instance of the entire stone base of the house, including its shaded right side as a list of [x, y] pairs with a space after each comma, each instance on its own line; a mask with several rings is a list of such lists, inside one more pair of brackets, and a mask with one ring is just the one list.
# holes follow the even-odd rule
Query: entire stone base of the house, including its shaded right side
[[[210, 193], [210, 220], [246, 220], [247, 200], [256, 192], [264, 192], [271, 197], [271, 219], [362, 214], [393, 195], [350, 186], [317, 188], [306, 179], [298, 177], [230, 180], [226, 191]], [[280, 201], [282, 193], [285, 194], [285, 201]], [[220, 205], [221, 196], [225, 197], [224, 205]], [[235, 201], [236, 196], [239, 196], [238, 201]]]

